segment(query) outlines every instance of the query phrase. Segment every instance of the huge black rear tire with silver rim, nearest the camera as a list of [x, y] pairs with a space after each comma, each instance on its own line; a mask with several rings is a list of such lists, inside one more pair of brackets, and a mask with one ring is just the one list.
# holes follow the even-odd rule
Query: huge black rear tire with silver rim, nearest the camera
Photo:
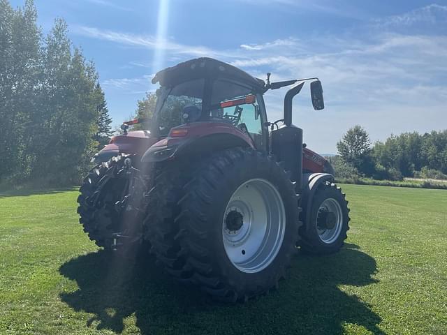
[[[241, 186], [254, 188], [254, 193], [247, 193], [251, 194], [247, 206], [255, 210], [233, 222], [228, 216], [238, 206], [237, 197], [244, 198], [244, 193], [237, 193]], [[300, 225], [298, 196], [278, 163], [252, 149], [227, 149], [205, 161], [177, 195], [182, 198], [177, 209], [169, 213], [176, 214], [171, 228], [165, 230], [168, 225], [164, 225], [161, 230], [165, 231], [150, 237], [170, 274], [223, 301], [244, 301], [277, 287], [295, 252]], [[266, 208], [269, 206], [270, 210]], [[258, 221], [265, 225], [257, 225]], [[244, 240], [248, 241], [250, 234], [259, 236], [245, 245], [247, 257], [241, 248], [238, 259], [233, 257], [234, 250], [228, 251], [231, 246], [226, 234], [239, 234], [248, 225]]]

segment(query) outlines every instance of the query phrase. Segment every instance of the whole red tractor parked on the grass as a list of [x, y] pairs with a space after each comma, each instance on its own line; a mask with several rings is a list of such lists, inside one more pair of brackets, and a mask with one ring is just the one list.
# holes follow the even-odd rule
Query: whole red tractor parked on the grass
[[[292, 99], [308, 80], [322, 110], [318, 78], [270, 82], [269, 73], [264, 82], [210, 58], [156, 73], [148, 130], [124, 124], [80, 188], [85, 232], [106, 249], [149, 250], [178, 281], [226, 301], [277, 287], [297, 246], [338, 251], [348, 202], [292, 124]], [[284, 118], [268, 121], [263, 94], [293, 84]]]

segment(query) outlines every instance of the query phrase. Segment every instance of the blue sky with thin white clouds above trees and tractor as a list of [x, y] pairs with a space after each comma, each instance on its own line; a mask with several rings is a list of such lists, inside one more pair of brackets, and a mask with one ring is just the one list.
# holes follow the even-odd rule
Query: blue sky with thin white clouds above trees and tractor
[[[447, 128], [447, 1], [35, 2], [43, 30], [64, 17], [96, 64], [115, 124], [156, 89], [156, 70], [207, 56], [261, 79], [320, 77], [325, 110], [312, 110], [307, 86], [293, 117], [319, 152], [335, 153], [355, 124], [373, 141]], [[270, 119], [281, 116], [284, 93], [265, 97]]]

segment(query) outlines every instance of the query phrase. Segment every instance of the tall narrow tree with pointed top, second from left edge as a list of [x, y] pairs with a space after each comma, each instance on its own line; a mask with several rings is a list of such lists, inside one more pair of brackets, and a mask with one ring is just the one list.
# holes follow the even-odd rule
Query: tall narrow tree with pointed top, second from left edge
[[[72, 100], [73, 89], [76, 88], [70, 75], [71, 62], [67, 25], [64, 20], [58, 19], [46, 36], [42, 51], [43, 74], [38, 96], [40, 108], [34, 112], [36, 127], [30, 153], [34, 158], [32, 179], [47, 179], [50, 176], [53, 180], [59, 179], [55, 175], [61, 174], [62, 168], [66, 168], [69, 162], [73, 164], [73, 158], [68, 157], [69, 162], [62, 163], [62, 156], [65, 158], [73, 151], [70, 147], [73, 139], [68, 139], [68, 128], [76, 119], [76, 114], [71, 110], [75, 107]], [[76, 142], [74, 145], [82, 143]], [[67, 179], [71, 179], [71, 171], [67, 172], [70, 175]]]

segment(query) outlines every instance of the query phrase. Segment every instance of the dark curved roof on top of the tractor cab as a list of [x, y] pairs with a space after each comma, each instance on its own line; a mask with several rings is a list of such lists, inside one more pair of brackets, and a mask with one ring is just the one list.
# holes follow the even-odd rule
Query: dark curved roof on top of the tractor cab
[[152, 84], [159, 82], [161, 86], [173, 87], [175, 84], [199, 78], [236, 80], [247, 84], [254, 91], [263, 91], [265, 88], [263, 80], [252, 77], [240, 68], [208, 57], [190, 59], [176, 66], [165, 68], [156, 73], [152, 78]]

